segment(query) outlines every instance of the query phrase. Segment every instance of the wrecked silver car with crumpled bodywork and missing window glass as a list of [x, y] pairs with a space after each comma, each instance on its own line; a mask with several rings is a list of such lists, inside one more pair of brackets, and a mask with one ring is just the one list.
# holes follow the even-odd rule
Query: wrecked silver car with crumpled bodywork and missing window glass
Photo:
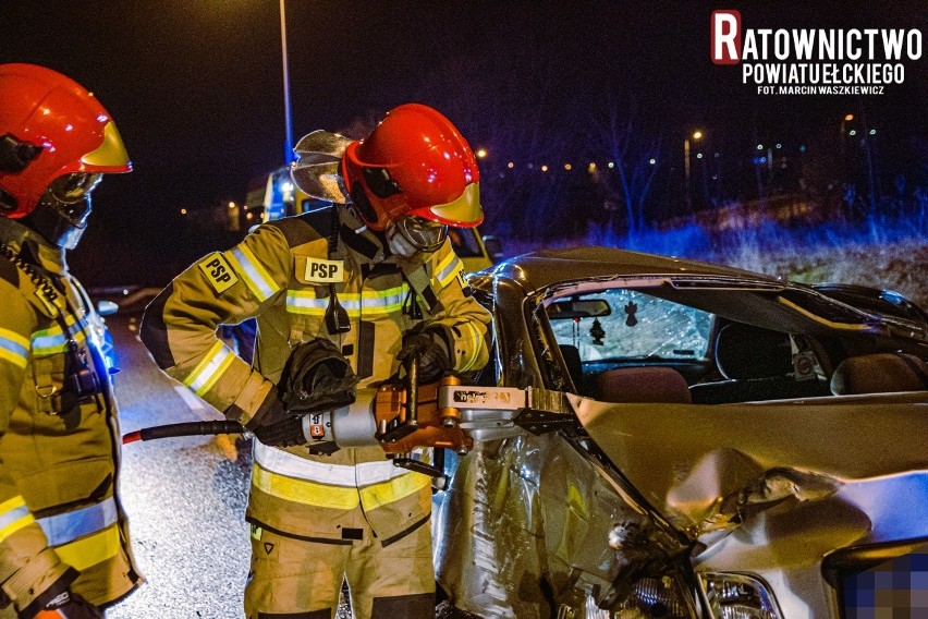
[[474, 447], [435, 518], [439, 616], [820, 619], [924, 596], [917, 313], [596, 247], [471, 283], [493, 354], [440, 404]]

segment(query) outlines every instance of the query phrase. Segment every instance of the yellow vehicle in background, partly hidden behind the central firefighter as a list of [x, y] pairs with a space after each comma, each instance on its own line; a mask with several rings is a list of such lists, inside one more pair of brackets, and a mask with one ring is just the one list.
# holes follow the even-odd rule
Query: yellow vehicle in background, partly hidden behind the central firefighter
[[[331, 205], [330, 202], [303, 193], [291, 180], [290, 168], [278, 168], [269, 174], [254, 179], [248, 184], [241, 227], [247, 230], [264, 221], [305, 213], [319, 211], [319, 216], [325, 217], [325, 209]], [[328, 227], [326, 221], [320, 221], [319, 224], [323, 228]], [[502, 245], [499, 240], [484, 239], [477, 228], [451, 228], [449, 238], [467, 272], [487, 268], [502, 258]]]

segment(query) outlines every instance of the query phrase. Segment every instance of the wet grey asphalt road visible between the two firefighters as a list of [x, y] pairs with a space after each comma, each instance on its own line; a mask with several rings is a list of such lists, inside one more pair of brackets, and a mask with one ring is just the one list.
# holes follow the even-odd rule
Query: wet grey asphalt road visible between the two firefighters
[[[113, 315], [123, 434], [218, 420], [213, 409], [163, 375], [137, 339], [137, 316]], [[241, 619], [251, 546], [244, 521], [251, 442], [183, 437], [124, 446], [121, 490], [146, 584], [108, 619]]]

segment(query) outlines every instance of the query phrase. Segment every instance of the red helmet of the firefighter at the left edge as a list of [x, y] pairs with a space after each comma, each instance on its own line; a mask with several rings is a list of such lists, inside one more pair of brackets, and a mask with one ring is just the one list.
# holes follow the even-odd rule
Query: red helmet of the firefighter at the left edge
[[29, 215], [58, 179], [51, 189], [76, 201], [99, 174], [131, 170], [115, 124], [91, 93], [44, 66], [0, 64], [0, 215]]

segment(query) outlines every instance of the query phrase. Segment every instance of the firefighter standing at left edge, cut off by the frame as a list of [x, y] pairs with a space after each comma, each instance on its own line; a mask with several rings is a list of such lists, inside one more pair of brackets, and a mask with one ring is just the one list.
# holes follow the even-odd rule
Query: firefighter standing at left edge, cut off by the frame
[[101, 617], [141, 579], [120, 506], [120, 432], [68, 272], [100, 177], [132, 169], [70, 78], [0, 64], [0, 618]]

